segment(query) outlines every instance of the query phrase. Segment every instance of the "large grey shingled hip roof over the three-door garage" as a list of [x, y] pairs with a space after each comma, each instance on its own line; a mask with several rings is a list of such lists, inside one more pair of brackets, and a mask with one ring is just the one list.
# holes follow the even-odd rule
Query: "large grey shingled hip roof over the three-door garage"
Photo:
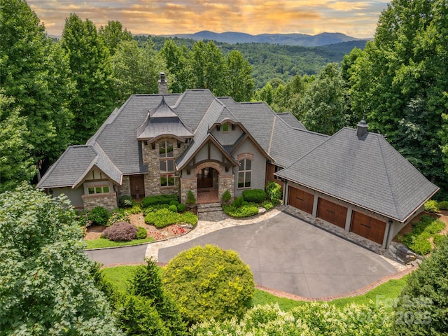
[[439, 190], [381, 134], [348, 127], [276, 175], [400, 222]]

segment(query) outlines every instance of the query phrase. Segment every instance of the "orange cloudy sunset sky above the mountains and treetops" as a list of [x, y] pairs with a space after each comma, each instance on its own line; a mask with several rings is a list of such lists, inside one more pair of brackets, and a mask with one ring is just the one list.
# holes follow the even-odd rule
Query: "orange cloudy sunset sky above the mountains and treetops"
[[210, 30], [248, 34], [341, 32], [374, 35], [385, 0], [27, 0], [48, 34], [60, 35], [70, 13], [97, 27], [118, 20], [132, 34]]

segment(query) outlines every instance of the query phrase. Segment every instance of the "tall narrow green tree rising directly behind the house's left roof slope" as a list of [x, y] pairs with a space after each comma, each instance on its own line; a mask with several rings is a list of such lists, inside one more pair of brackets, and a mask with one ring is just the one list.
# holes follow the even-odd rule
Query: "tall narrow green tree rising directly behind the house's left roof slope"
[[65, 20], [61, 43], [76, 83], [70, 104], [73, 142], [82, 144], [98, 130], [116, 102], [111, 56], [92, 21], [83, 21], [76, 14]]

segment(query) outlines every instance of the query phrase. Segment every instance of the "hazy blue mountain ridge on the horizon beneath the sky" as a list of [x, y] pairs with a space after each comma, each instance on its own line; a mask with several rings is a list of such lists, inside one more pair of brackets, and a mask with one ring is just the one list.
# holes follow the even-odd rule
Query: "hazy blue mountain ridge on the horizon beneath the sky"
[[236, 43], [270, 43], [280, 45], [302, 45], [304, 47], [316, 47], [342, 43], [348, 41], [365, 41], [366, 38], [356, 38], [342, 33], [321, 33], [317, 35], [307, 34], [259, 34], [251, 35], [233, 31], [214, 33], [213, 31], [198, 31], [194, 34], [160, 35], [164, 37], [191, 38], [195, 41], [213, 40], [230, 44]]

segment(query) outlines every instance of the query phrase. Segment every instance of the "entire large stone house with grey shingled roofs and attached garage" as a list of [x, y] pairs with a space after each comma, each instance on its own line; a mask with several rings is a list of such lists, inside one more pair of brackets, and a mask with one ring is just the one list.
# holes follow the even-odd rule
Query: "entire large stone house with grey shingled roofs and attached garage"
[[[160, 81], [166, 92], [164, 78]], [[265, 103], [209, 90], [134, 94], [85, 145], [69, 146], [37, 188], [74, 207], [283, 186], [283, 202], [386, 247], [438, 190], [380, 134], [344, 127], [328, 137]]]

